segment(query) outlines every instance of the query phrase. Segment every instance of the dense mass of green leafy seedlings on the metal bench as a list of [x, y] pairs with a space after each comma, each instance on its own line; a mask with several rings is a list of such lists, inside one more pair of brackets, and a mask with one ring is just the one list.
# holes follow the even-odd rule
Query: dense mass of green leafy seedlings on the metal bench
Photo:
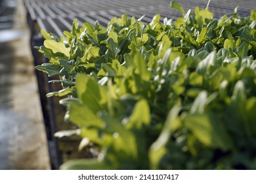
[[149, 24], [123, 14], [107, 27], [74, 21], [64, 37], [41, 31], [49, 63], [60, 76], [65, 121], [79, 150], [93, 142], [96, 158], [61, 169], [255, 169], [256, 11], [219, 20], [194, 8], [177, 20]]

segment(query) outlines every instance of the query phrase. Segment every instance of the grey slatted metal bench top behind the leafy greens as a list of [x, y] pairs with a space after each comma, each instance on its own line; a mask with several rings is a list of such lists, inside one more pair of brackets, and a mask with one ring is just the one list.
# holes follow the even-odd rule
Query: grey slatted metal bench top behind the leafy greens
[[[184, 10], [199, 6], [205, 8], [208, 0], [180, 0]], [[169, 0], [24, 0], [28, 14], [32, 21], [38, 22], [40, 29], [56, 35], [70, 29], [74, 18], [79, 22], [95, 23], [106, 26], [113, 16], [135, 16], [144, 22], [150, 22], [155, 14], [163, 18], [177, 18], [181, 16], [177, 10], [169, 7]], [[256, 9], [255, 0], [211, 0], [209, 10], [215, 12], [215, 18], [232, 12], [236, 5], [240, 5], [238, 12], [242, 16], [249, 16], [250, 10]], [[162, 20], [163, 20], [162, 18]]]

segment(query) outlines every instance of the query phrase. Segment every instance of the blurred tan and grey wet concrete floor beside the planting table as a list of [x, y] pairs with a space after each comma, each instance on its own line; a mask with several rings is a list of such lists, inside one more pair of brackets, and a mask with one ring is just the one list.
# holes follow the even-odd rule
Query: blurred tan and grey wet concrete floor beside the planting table
[[5, 42], [0, 29], [0, 169], [50, 169], [30, 32], [17, 2], [16, 25], [7, 31], [21, 37]]

